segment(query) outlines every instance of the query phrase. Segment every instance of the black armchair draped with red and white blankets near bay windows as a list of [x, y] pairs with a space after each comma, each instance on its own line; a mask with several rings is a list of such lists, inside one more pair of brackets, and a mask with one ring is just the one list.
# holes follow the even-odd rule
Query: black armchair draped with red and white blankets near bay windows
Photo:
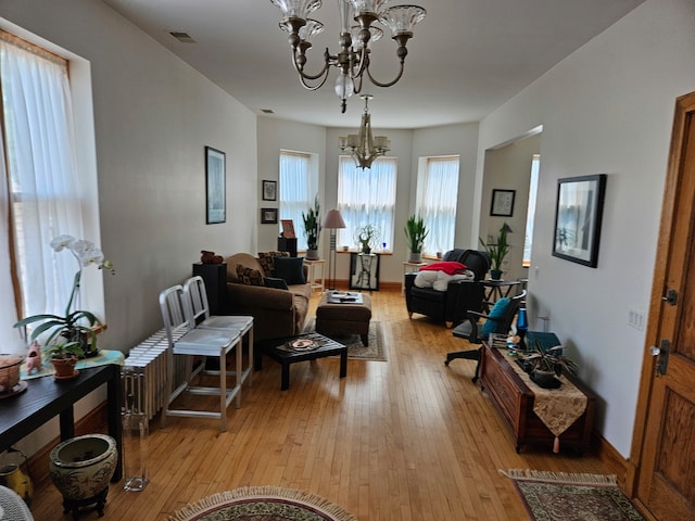
[[408, 317], [414, 313], [441, 320], [451, 328], [466, 317], [467, 310], [481, 312], [484, 300], [484, 288], [481, 280], [490, 269], [490, 256], [478, 250], [451, 250], [444, 254], [442, 260], [457, 262], [473, 272], [473, 280], [450, 281], [446, 291], [415, 285], [417, 274], [405, 275], [405, 305]]

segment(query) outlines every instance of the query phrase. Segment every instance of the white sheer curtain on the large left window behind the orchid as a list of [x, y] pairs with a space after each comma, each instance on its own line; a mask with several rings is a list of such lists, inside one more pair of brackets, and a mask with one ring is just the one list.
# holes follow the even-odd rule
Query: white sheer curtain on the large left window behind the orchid
[[22, 314], [63, 314], [78, 266], [71, 255], [54, 255], [49, 244], [63, 233], [83, 238], [67, 66], [0, 36], [12, 200], [12, 220], [3, 211], [2, 247], [13, 226]]

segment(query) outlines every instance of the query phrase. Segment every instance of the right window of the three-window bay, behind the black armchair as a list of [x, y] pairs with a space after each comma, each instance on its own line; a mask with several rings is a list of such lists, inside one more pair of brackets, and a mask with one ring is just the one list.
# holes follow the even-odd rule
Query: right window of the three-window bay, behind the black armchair
[[428, 157], [417, 182], [416, 213], [428, 229], [422, 253], [433, 255], [454, 247], [458, 165], [460, 157]]

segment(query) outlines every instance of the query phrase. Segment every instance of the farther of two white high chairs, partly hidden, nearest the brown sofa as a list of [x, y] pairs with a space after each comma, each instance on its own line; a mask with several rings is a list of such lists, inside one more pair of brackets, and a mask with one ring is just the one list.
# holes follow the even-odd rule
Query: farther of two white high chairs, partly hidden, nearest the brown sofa
[[[247, 339], [249, 346], [249, 357], [247, 368], [243, 368], [241, 350], [237, 350], [237, 382], [242, 385], [249, 380], [251, 385], [251, 372], [253, 370], [253, 317], [248, 315], [211, 315], [210, 304], [207, 303], [207, 291], [205, 282], [200, 276], [194, 276], [184, 283], [184, 294], [188, 298], [192, 310], [192, 322], [199, 329], [212, 329], [220, 331], [238, 332], [242, 340]], [[207, 370], [207, 374], [214, 374], [216, 371]], [[229, 374], [229, 372], [228, 372]], [[241, 406], [241, 393], [237, 395], [237, 408]]]

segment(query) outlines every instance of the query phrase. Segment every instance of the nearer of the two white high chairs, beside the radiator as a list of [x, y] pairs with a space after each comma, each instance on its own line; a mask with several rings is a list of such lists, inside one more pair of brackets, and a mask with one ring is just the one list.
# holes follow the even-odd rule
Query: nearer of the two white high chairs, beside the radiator
[[[241, 385], [237, 379], [237, 385], [227, 389], [227, 354], [235, 347], [240, 348], [241, 334], [238, 331], [222, 331], [213, 329], [195, 329], [193, 326], [193, 312], [190, 302], [184, 295], [184, 287], [174, 285], [160, 293], [160, 308], [168, 340], [167, 350], [167, 394], [162, 411], [162, 427], [166, 424], [167, 416], [219, 418], [219, 430], [227, 430], [227, 407], [238, 395]], [[174, 355], [186, 357], [186, 368], [182, 383], [173, 390], [174, 385]], [[193, 370], [192, 357], [216, 357], [219, 360], [219, 386], [193, 386], [191, 380], [199, 374], [204, 361]], [[238, 357], [239, 359], [239, 357]], [[240, 369], [240, 367], [238, 367]], [[172, 409], [169, 406], [184, 391], [191, 394], [219, 395], [219, 412], [207, 410]]]

